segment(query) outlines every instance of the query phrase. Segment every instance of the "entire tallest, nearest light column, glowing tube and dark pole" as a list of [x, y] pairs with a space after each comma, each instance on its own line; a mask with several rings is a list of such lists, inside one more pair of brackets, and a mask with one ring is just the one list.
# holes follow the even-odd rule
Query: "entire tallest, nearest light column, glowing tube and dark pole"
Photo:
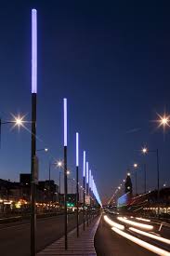
[[36, 156], [36, 93], [37, 93], [37, 11], [32, 9], [32, 160], [31, 160], [31, 256], [36, 254], [35, 156]]

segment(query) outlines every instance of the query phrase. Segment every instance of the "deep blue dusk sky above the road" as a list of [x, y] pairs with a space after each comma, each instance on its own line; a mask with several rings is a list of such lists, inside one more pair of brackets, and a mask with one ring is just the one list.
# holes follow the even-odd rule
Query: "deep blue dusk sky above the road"
[[[24, 3], [26, 2], [26, 3]], [[69, 167], [74, 176], [75, 132], [80, 132], [102, 198], [111, 196], [134, 161], [147, 162], [148, 189], [169, 185], [170, 131], [156, 130], [156, 113], [170, 112], [168, 1], [11, 1], [0, 8], [0, 111], [31, 119], [31, 9], [38, 11], [37, 147], [62, 158], [62, 99], [69, 107]], [[29, 125], [27, 125], [29, 128]], [[135, 129], [135, 130], [134, 130]], [[128, 132], [128, 131], [132, 132]], [[0, 178], [30, 172], [31, 136], [2, 128]], [[40, 156], [47, 179], [49, 155]], [[82, 155], [81, 155], [82, 156]], [[83, 159], [81, 157], [81, 163]], [[53, 169], [52, 178], [59, 173]], [[142, 191], [142, 169], [138, 186]]]

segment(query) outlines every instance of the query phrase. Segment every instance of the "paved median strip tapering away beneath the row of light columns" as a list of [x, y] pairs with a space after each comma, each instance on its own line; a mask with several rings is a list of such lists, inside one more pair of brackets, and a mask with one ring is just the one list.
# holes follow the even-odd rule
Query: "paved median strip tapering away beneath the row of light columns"
[[80, 225], [80, 236], [77, 238], [76, 229], [68, 234], [68, 249], [64, 249], [64, 236], [59, 240], [37, 253], [37, 256], [56, 256], [56, 255], [97, 255], [94, 247], [94, 236], [96, 234], [98, 223], [101, 216], [95, 218], [87, 227], [85, 223], [85, 231], [83, 224]]

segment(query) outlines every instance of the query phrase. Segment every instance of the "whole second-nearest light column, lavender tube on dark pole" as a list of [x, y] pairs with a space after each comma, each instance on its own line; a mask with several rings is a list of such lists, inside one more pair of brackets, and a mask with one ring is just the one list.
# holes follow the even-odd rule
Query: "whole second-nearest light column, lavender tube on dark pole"
[[65, 249], [68, 249], [67, 239], [67, 99], [63, 99], [63, 111], [64, 111], [64, 226], [65, 226]]

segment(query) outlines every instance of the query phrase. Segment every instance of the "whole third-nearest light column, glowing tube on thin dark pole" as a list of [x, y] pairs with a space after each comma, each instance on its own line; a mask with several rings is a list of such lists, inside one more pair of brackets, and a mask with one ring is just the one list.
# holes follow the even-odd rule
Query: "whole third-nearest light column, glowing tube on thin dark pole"
[[76, 132], [76, 219], [77, 219], [77, 237], [79, 236], [79, 134]]

